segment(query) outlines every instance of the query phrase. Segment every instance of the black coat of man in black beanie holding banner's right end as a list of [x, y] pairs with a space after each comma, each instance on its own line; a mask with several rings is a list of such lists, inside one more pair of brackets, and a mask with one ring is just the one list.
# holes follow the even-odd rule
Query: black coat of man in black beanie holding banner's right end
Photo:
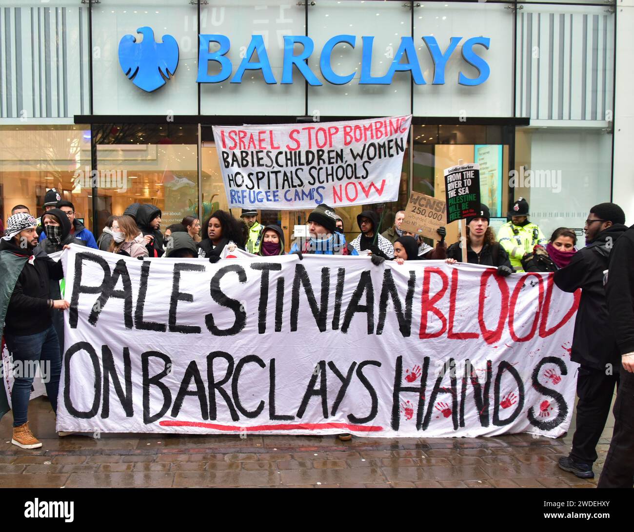
[[553, 273], [555, 285], [564, 292], [581, 289], [570, 358], [597, 370], [605, 370], [607, 364], [612, 364], [612, 372], [618, 372], [621, 365], [607, 312], [603, 276], [614, 243], [626, 230], [623, 224], [607, 228], [592, 243], [576, 252], [566, 268]]

